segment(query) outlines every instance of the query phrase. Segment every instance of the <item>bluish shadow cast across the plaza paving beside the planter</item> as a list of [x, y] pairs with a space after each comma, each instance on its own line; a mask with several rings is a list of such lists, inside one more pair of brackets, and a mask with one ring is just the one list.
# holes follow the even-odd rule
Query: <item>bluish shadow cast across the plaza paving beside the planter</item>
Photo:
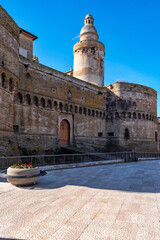
[[[6, 179], [3, 181], [5, 182]], [[47, 175], [40, 178], [38, 184], [23, 188], [42, 190], [61, 188], [66, 185], [160, 193], [160, 161], [48, 171]]]

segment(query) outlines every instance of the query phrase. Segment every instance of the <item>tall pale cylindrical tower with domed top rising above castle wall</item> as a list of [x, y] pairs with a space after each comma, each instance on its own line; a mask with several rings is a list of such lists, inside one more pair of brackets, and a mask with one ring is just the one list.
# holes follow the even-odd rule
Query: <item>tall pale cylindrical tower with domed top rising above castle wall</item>
[[74, 45], [73, 76], [83, 81], [104, 86], [104, 45], [98, 41], [94, 19], [88, 14], [80, 32], [80, 42]]

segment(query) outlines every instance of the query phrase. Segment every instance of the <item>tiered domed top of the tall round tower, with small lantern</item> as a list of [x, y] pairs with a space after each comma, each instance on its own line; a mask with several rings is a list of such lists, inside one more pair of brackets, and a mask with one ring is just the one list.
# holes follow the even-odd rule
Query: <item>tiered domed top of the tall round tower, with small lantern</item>
[[91, 14], [87, 14], [85, 19], [84, 19], [84, 27], [81, 29], [80, 32], [80, 41], [85, 41], [85, 40], [95, 40], [98, 41], [98, 33], [96, 28], [93, 25], [94, 23], [94, 18], [92, 17]]

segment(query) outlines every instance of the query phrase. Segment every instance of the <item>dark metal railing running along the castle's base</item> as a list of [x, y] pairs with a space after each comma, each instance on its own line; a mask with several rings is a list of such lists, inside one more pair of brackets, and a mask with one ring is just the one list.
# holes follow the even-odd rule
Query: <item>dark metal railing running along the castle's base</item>
[[15, 163], [29, 163], [34, 166], [85, 163], [93, 161], [124, 160], [124, 162], [133, 162], [138, 160], [159, 160], [160, 152], [108, 152], [108, 153], [85, 153], [85, 154], [60, 154], [60, 155], [33, 155], [33, 156], [14, 156], [0, 157], [0, 169]]

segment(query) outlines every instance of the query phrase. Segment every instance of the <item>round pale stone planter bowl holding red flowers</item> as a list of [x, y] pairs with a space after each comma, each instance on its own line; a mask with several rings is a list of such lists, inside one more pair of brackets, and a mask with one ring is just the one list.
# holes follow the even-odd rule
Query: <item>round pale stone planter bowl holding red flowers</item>
[[35, 168], [11, 168], [7, 169], [7, 181], [15, 186], [28, 186], [35, 184], [40, 177], [40, 169]]

